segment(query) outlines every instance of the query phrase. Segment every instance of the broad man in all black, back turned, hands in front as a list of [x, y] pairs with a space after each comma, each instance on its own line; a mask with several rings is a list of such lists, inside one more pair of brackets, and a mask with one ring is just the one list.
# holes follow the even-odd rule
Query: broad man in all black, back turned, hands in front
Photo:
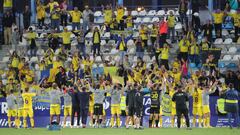
[[189, 125], [188, 107], [186, 104], [186, 102], [189, 101], [189, 97], [186, 92], [182, 91], [182, 87], [180, 85], [177, 85], [175, 89], [177, 92], [173, 95], [172, 101], [176, 102], [177, 126], [178, 128], [181, 127], [181, 116], [183, 114], [186, 120], [187, 129], [191, 130]]

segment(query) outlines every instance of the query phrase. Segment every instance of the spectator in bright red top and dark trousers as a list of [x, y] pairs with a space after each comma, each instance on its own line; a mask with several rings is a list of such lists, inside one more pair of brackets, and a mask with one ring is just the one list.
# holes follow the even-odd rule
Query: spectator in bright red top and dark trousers
[[160, 48], [163, 48], [163, 45], [167, 43], [167, 34], [168, 34], [168, 23], [162, 18], [159, 24], [159, 45]]

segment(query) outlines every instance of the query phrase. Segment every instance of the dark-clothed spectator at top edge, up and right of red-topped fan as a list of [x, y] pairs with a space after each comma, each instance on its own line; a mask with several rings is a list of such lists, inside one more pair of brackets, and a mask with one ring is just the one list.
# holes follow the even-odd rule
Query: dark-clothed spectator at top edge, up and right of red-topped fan
[[180, 21], [184, 25], [185, 30], [188, 28], [188, 17], [187, 17], [187, 10], [188, 10], [188, 3], [186, 0], [180, 0], [178, 12], [180, 14]]

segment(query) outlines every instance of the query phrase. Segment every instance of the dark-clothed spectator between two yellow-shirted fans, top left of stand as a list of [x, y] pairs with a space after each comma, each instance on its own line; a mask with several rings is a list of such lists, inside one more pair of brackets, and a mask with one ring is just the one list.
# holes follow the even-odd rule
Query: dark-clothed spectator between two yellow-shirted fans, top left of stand
[[64, 0], [64, 1], [60, 4], [60, 9], [61, 9], [61, 25], [64, 26], [64, 27], [67, 26], [67, 19], [68, 19], [67, 8], [68, 8], [67, 0]]

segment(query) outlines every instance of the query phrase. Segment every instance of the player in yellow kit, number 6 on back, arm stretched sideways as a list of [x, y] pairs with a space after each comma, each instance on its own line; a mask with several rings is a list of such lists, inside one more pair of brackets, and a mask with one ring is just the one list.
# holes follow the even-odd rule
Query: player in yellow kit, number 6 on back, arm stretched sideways
[[34, 119], [33, 119], [33, 105], [32, 98], [36, 96], [36, 93], [30, 93], [29, 88], [25, 88], [24, 93], [22, 94], [23, 98], [23, 127], [27, 128], [27, 117], [30, 118], [31, 127], [34, 128]]

